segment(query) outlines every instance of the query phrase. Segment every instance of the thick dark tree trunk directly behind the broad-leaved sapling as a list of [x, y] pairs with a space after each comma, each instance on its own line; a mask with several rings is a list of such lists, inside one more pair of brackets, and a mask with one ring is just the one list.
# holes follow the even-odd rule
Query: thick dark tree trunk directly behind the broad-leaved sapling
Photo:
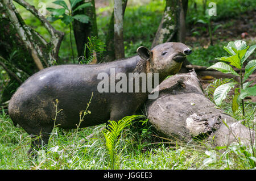
[[[73, 32], [75, 35], [77, 54], [79, 57], [84, 56], [84, 48], [85, 48], [85, 44], [88, 42], [88, 37], [98, 36], [96, 9], [95, 9], [94, 0], [84, 0], [80, 3], [77, 3], [76, 7], [85, 2], [92, 3], [92, 6], [86, 7], [85, 9], [82, 9], [82, 10], [78, 10], [73, 14], [73, 15], [85, 14], [89, 16], [88, 23], [81, 23], [77, 20], [74, 20], [73, 22]], [[86, 53], [86, 58], [88, 58], [89, 56], [90, 55]]]

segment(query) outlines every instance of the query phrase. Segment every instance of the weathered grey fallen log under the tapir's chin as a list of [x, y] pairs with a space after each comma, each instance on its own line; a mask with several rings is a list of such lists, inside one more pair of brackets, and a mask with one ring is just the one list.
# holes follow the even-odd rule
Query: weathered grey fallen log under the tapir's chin
[[[195, 71], [176, 74], [158, 88], [154, 91], [159, 91], [159, 97], [148, 99], [146, 109], [150, 123], [160, 135], [185, 142], [208, 139], [214, 146], [229, 145], [237, 139], [250, 144], [249, 128], [214, 107], [204, 96]], [[254, 137], [255, 133], [251, 134]]]

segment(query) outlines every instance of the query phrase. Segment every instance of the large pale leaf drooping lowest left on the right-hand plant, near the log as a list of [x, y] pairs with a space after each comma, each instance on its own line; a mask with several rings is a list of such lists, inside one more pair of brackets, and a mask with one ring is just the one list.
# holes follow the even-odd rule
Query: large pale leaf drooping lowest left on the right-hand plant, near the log
[[213, 100], [217, 106], [220, 106], [222, 100], [226, 98], [226, 95], [236, 85], [236, 82], [226, 83], [224, 85], [218, 86], [217, 89], [214, 91]]

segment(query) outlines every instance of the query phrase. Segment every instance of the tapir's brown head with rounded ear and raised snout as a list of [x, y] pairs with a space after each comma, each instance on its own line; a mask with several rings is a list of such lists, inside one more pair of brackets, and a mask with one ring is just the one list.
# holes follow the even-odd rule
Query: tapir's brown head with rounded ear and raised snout
[[151, 50], [139, 47], [137, 53], [143, 60], [150, 62], [152, 71], [164, 77], [178, 73], [182, 62], [186, 60], [187, 55], [192, 53], [192, 50], [183, 43], [168, 42], [157, 45]]

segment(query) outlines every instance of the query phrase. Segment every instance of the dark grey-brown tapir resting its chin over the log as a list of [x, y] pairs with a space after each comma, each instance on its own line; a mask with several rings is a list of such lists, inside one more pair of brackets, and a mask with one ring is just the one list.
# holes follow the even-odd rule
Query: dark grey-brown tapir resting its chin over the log
[[[32, 139], [31, 148], [36, 146], [40, 149], [48, 143], [55, 125], [64, 129], [77, 128], [80, 112], [86, 109], [91, 98], [88, 108], [90, 114], [85, 116], [80, 128], [133, 115], [150, 94], [148, 91], [99, 91], [102, 81], [98, 76], [100, 73], [110, 75], [111, 70], [115, 74], [126, 75], [158, 73], [160, 83], [168, 75], [176, 74], [191, 52], [183, 43], [169, 42], [151, 50], [139, 47], [137, 56], [113, 62], [51, 66], [32, 75], [16, 90], [9, 103], [9, 115], [14, 124], [19, 124], [32, 138], [39, 137]], [[129, 85], [127, 83], [127, 90]]]

